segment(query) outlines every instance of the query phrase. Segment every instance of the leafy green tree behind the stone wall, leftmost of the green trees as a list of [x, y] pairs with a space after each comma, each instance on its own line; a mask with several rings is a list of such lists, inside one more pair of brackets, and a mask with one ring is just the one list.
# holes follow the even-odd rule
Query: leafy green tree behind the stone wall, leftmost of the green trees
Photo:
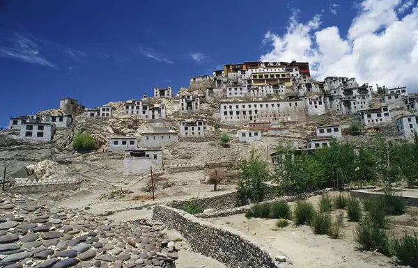
[[264, 198], [264, 182], [270, 178], [268, 164], [261, 160], [260, 155], [256, 155], [256, 150], [252, 149], [249, 159], [240, 163], [240, 175], [238, 180], [238, 203], [245, 205], [247, 200], [250, 203], [258, 203]]

